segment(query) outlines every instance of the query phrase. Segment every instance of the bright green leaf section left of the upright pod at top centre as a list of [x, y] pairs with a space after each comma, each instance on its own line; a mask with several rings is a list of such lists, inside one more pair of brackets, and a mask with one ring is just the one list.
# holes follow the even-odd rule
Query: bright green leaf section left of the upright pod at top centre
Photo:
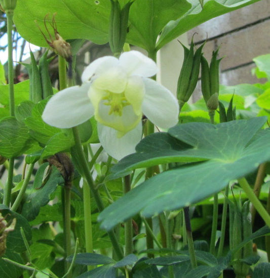
[[[57, 13], [55, 19], [57, 31], [64, 39], [87, 39], [98, 44], [108, 41], [108, 19], [110, 12], [109, 1], [83, 1], [83, 0], [51, 0], [36, 2], [35, 0], [22, 0], [17, 3], [14, 11], [14, 22], [20, 35], [41, 47], [48, 47], [41, 31], [34, 20], [45, 30], [44, 18], [49, 14], [52, 20], [53, 13]], [[48, 29], [54, 37], [54, 32], [49, 23]], [[50, 38], [49, 38], [50, 40]]]

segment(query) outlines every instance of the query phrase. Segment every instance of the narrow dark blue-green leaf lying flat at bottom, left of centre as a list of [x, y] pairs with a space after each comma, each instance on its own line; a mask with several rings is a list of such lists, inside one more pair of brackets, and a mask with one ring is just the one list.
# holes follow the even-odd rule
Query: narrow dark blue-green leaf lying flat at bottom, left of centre
[[[68, 262], [71, 262], [73, 255], [66, 258]], [[75, 263], [85, 264], [85, 265], [98, 265], [98, 264], [111, 264], [115, 263], [110, 257], [95, 254], [95, 253], [79, 253], [76, 256]]]

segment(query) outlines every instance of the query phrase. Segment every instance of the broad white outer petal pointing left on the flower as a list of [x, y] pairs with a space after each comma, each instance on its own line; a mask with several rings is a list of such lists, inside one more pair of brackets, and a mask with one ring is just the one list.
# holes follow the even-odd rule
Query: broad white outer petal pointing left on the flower
[[57, 92], [47, 103], [42, 118], [59, 128], [79, 125], [94, 115], [94, 107], [88, 97], [90, 83], [73, 86]]

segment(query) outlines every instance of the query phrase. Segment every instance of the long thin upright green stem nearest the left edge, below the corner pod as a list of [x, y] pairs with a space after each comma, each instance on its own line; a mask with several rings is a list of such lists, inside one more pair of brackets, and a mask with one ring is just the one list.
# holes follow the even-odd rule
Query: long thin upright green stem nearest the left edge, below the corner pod
[[[9, 105], [10, 105], [10, 116], [15, 115], [15, 97], [14, 97], [14, 77], [13, 77], [13, 40], [12, 40], [12, 20], [13, 20], [13, 10], [7, 10], [7, 25], [8, 25], [8, 67], [9, 67]], [[12, 190], [12, 179], [13, 179], [13, 169], [14, 169], [14, 158], [10, 159], [9, 171], [8, 171], [8, 181], [4, 191], [3, 204], [6, 206], [10, 205], [11, 190]]]

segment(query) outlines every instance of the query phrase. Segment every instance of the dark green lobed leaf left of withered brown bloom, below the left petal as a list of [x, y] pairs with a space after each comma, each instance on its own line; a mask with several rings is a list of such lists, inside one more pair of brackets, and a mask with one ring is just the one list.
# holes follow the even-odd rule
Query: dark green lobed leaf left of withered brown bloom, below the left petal
[[25, 203], [22, 207], [22, 215], [28, 220], [33, 220], [40, 212], [40, 207], [50, 201], [50, 195], [56, 190], [57, 185], [63, 182], [59, 171], [54, 167], [49, 179], [43, 186], [43, 175], [49, 163], [44, 163], [38, 168], [33, 186], [26, 190]]

